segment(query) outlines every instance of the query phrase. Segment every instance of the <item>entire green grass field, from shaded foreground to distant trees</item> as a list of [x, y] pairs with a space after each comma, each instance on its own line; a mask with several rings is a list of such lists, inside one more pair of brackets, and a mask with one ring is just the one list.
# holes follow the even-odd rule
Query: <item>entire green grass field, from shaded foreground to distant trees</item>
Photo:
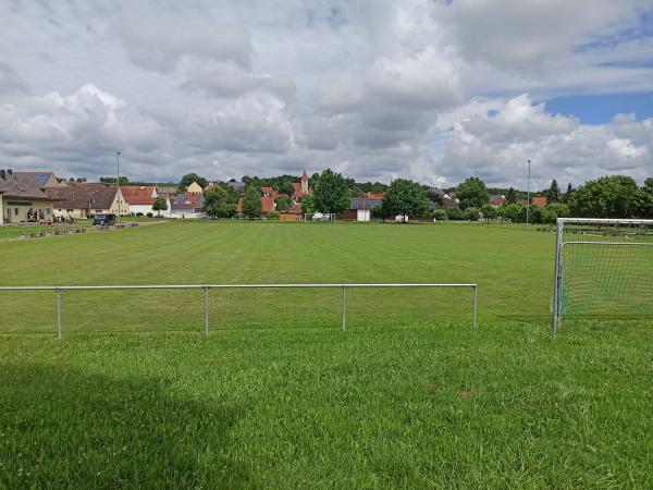
[[0, 244], [0, 487], [650, 487], [650, 321], [550, 331], [551, 233], [176, 222]]

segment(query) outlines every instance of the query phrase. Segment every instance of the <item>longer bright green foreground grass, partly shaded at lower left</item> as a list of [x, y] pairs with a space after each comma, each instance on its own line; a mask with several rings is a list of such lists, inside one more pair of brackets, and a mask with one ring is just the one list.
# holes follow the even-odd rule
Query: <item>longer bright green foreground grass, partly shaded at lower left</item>
[[0, 336], [0, 487], [653, 486], [653, 329]]

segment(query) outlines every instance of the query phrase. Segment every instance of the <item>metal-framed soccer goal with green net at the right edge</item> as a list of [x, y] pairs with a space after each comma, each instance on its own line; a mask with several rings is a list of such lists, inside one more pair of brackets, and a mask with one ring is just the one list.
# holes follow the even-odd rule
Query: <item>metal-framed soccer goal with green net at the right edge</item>
[[558, 218], [554, 335], [564, 315], [653, 316], [653, 220]]

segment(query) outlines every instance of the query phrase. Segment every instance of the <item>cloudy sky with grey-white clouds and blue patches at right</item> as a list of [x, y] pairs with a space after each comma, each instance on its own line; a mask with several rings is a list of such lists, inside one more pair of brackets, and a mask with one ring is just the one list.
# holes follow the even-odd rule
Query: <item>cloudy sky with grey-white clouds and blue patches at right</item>
[[651, 0], [0, 2], [0, 168], [653, 175]]

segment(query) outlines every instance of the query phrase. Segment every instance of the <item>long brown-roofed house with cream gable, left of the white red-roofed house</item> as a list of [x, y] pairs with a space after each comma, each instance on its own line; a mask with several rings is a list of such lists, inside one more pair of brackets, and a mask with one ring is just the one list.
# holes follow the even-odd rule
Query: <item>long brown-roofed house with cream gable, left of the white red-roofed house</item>
[[58, 200], [54, 207], [58, 218], [84, 219], [91, 215], [130, 212], [120, 187], [109, 184], [67, 182], [65, 187], [47, 188], [46, 194]]

